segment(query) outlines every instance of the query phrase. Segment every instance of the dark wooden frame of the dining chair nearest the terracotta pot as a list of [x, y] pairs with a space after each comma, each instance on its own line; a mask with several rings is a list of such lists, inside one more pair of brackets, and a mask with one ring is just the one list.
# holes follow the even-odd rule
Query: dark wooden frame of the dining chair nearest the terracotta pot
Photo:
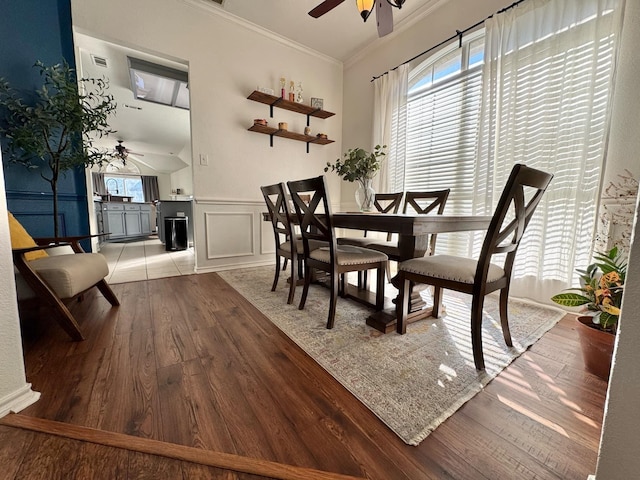
[[[398, 309], [398, 333], [405, 333], [409, 306], [411, 282], [434, 286], [433, 313], [438, 317], [442, 304], [442, 289], [456, 290], [473, 296], [471, 304], [471, 342], [473, 359], [478, 370], [484, 370], [484, 354], [482, 351], [482, 309], [485, 295], [500, 290], [500, 322], [505, 343], [512, 346], [509, 331], [508, 300], [511, 272], [516, 252], [524, 231], [547, 189], [552, 174], [545, 173], [525, 165], [516, 164], [507, 180], [491, 223], [485, 235], [480, 257], [477, 262], [473, 283], [458, 282], [430, 276], [426, 273], [413, 273], [402, 270], [398, 272], [400, 293]], [[535, 190], [528, 202], [525, 202], [525, 187]], [[505, 218], [513, 206], [514, 218], [504, 226]], [[503, 264], [504, 275], [492, 282], [487, 281], [489, 265], [493, 255], [506, 254]]]

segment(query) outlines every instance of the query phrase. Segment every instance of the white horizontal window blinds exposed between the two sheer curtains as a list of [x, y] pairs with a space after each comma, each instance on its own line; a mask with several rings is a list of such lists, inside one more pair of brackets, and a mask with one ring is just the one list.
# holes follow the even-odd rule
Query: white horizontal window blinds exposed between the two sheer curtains
[[[472, 213], [481, 83], [474, 68], [410, 94], [405, 162], [391, 170], [393, 191], [450, 188], [445, 215]], [[439, 235], [436, 250], [468, 252], [469, 234]]]

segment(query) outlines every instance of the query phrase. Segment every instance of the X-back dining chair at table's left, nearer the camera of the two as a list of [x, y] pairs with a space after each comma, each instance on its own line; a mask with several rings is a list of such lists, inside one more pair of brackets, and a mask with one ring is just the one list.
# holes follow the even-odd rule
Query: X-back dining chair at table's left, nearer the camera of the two
[[[321, 270], [330, 279], [330, 303], [327, 328], [333, 328], [338, 293], [345, 294], [345, 273], [361, 270], [377, 270], [376, 309], [384, 307], [384, 270], [387, 256], [383, 253], [353, 245], [340, 245], [331, 216], [327, 181], [324, 175], [304, 180], [287, 182], [289, 193], [295, 206], [302, 234], [304, 248], [304, 289], [299, 309], [304, 305], [309, 293], [312, 270]], [[305, 203], [301, 195], [310, 194]], [[312, 249], [313, 242], [327, 242], [327, 246]]]

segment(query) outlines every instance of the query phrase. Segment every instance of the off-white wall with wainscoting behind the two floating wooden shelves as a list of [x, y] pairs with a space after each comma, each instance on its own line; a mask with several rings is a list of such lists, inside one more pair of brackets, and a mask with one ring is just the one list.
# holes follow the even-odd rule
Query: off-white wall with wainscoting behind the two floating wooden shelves
[[[265, 34], [215, 7], [189, 0], [72, 0], [74, 27], [83, 33], [189, 66], [193, 151], [194, 227], [198, 271], [273, 261], [270, 224], [263, 222], [261, 185], [323, 174], [340, 156], [342, 64]], [[199, 6], [200, 5], [200, 6]], [[153, 21], [150, 21], [151, 15]], [[324, 99], [327, 120], [312, 119], [313, 132], [336, 140], [327, 146], [269, 137], [247, 129], [254, 118], [285, 121], [302, 132], [306, 117], [247, 100], [257, 87], [279, 89], [279, 78], [303, 85], [303, 97]], [[200, 163], [208, 157], [208, 165]], [[339, 179], [330, 178], [339, 201]], [[180, 185], [174, 184], [176, 188]]]

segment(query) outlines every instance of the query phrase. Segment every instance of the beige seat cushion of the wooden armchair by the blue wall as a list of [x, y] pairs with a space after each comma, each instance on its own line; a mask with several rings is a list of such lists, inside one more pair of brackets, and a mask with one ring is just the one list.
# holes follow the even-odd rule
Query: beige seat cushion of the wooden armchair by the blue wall
[[[100, 253], [52, 255], [32, 260], [29, 265], [59, 298], [74, 297], [109, 275], [107, 261]], [[21, 299], [24, 295], [19, 291]], [[26, 298], [30, 298], [33, 292], [30, 296], [28, 293], [26, 295]]]

